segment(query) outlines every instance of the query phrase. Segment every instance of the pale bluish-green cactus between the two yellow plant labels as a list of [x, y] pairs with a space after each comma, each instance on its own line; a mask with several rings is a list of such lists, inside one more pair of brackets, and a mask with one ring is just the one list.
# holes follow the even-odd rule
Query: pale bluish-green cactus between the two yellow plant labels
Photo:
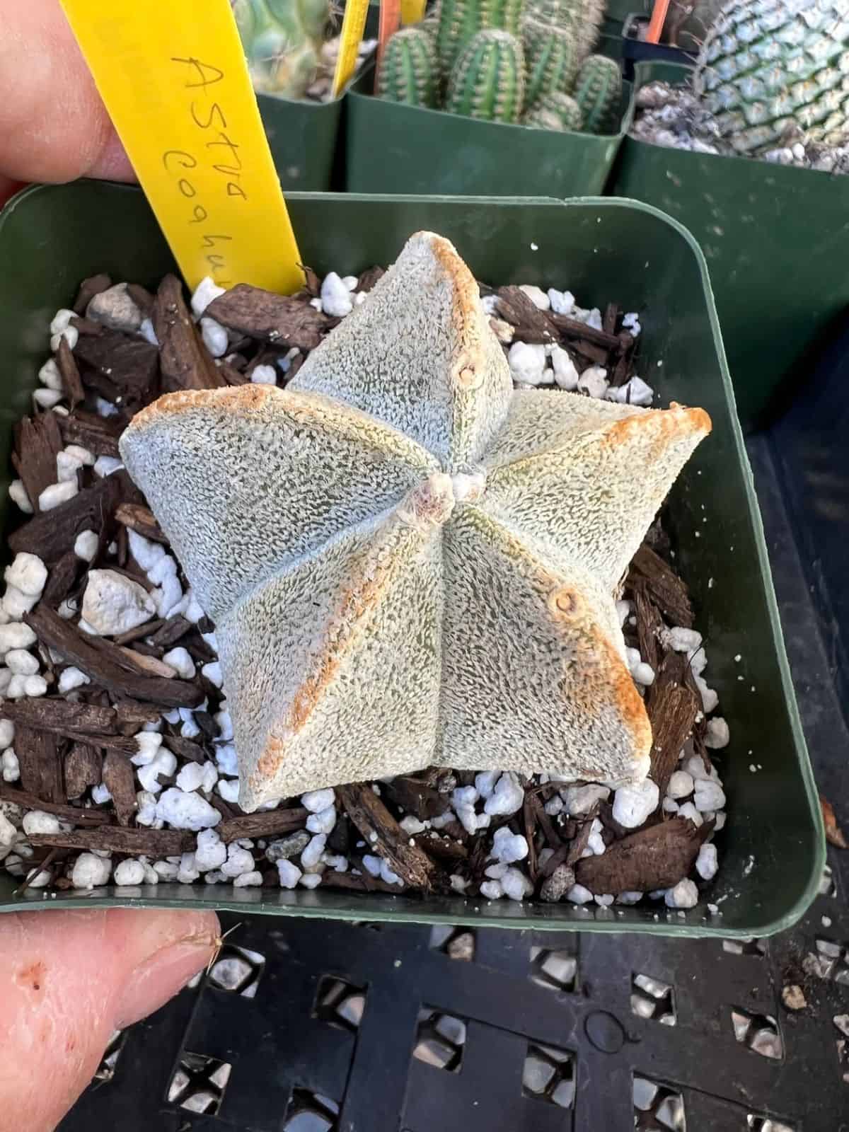
[[329, 0], [233, 0], [233, 15], [255, 89], [302, 97], [318, 71]]

